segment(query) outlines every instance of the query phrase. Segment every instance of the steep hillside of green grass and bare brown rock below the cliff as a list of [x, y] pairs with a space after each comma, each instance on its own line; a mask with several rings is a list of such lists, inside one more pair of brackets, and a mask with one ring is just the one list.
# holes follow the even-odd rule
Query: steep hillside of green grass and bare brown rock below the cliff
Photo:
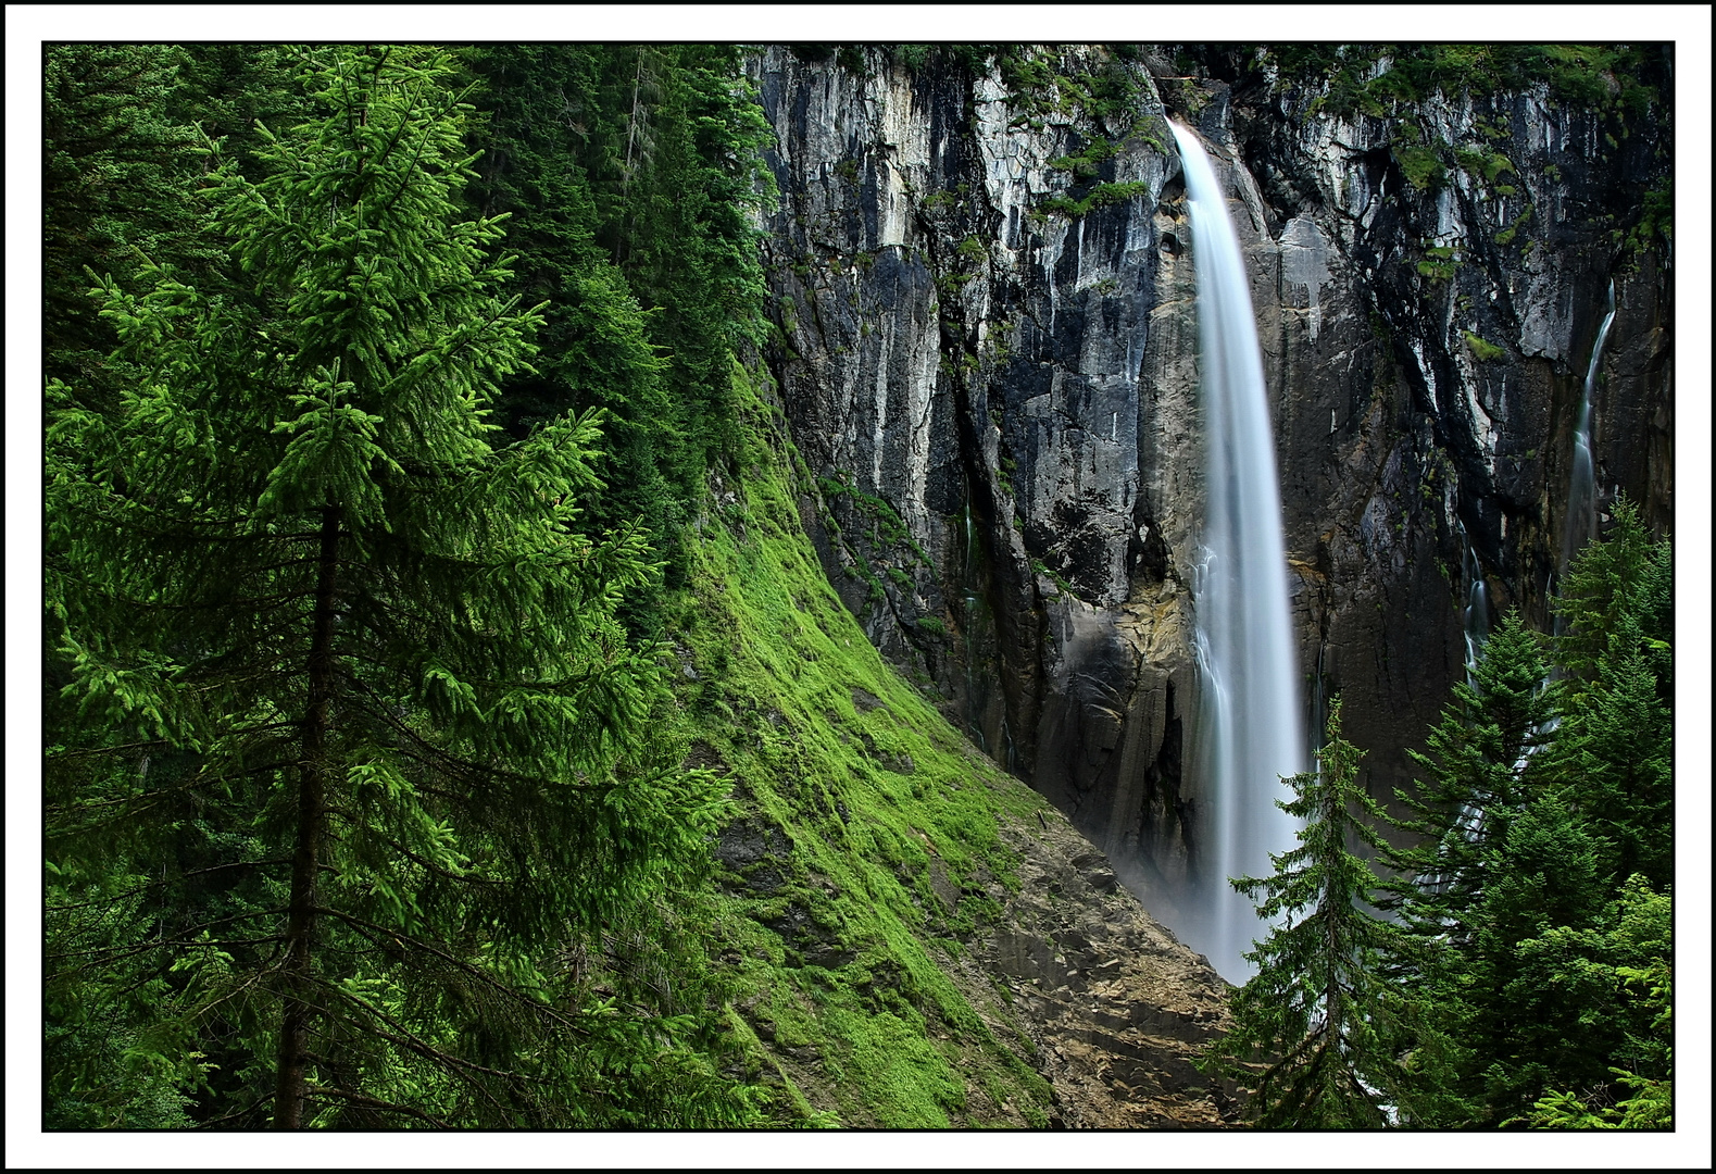
[[676, 628], [692, 762], [734, 781], [712, 954], [770, 1114], [1218, 1124], [1187, 1054], [1224, 983], [865, 640], [805, 537], [779, 403], [734, 374], [750, 443]]

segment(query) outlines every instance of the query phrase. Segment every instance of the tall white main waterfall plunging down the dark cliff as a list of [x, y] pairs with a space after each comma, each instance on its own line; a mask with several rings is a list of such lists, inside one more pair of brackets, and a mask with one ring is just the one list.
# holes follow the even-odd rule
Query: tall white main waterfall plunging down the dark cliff
[[1287, 608], [1275, 441], [1263, 357], [1239, 239], [1198, 139], [1174, 125], [1191, 204], [1198, 280], [1198, 360], [1205, 414], [1206, 508], [1193, 592], [1208, 819], [1199, 880], [1181, 937], [1222, 977], [1244, 982], [1242, 954], [1266, 925], [1229, 877], [1266, 877], [1270, 853], [1296, 846], [1297, 824], [1275, 800], [1280, 776], [1304, 769], [1299, 683]]

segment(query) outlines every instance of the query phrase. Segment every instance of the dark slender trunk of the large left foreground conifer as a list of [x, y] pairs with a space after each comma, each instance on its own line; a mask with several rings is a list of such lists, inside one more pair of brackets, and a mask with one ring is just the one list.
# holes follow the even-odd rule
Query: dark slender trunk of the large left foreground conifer
[[333, 602], [340, 553], [340, 506], [323, 508], [316, 560], [316, 625], [311, 635], [309, 704], [304, 711], [304, 752], [299, 760], [299, 838], [292, 850], [292, 906], [287, 920], [287, 999], [280, 1018], [275, 1068], [275, 1128], [304, 1123], [304, 1052], [312, 1002], [311, 946], [316, 934], [316, 867], [326, 815], [326, 748], [333, 697]]

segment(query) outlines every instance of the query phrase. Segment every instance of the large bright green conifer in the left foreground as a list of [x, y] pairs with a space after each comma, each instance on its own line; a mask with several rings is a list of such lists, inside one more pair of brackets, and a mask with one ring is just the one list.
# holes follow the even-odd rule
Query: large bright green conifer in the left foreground
[[153, 990], [120, 1026], [204, 1123], [733, 1123], [698, 1009], [580, 961], [647, 961], [719, 790], [649, 738], [644, 539], [580, 532], [595, 414], [486, 419], [541, 311], [458, 213], [448, 74], [305, 55], [319, 117], [220, 168], [227, 280], [108, 278], [141, 378], [50, 384], [50, 1032]]

